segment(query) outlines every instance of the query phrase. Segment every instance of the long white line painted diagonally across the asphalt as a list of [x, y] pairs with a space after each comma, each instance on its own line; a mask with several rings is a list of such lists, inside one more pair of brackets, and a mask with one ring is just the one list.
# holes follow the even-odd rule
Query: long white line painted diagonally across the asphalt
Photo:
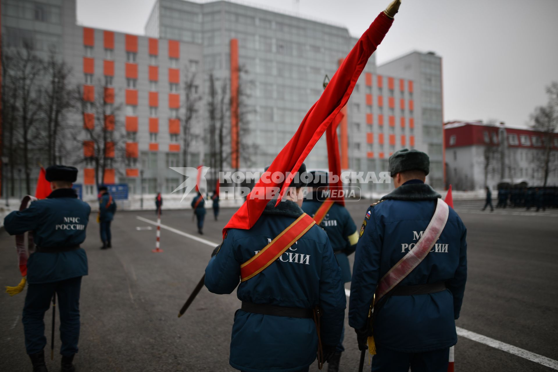
[[[153, 225], [157, 224], [155, 221], [151, 221], [151, 220], [148, 220], [148, 219], [140, 217], [140, 216], [136, 216], [136, 218], [138, 220], [142, 220], [142, 221], [147, 222], [149, 224], [153, 224]], [[199, 241], [200, 243], [210, 245], [211, 247], [215, 247], [215, 246], [219, 245], [218, 243], [214, 243], [213, 241], [205, 240], [205, 239], [199, 238], [198, 236], [191, 235], [191, 234], [188, 234], [188, 233], [184, 233], [183, 231], [171, 228], [170, 226], [161, 225], [161, 229], [166, 229], [166, 230], [172, 231], [173, 233], [176, 233], [176, 234], [179, 234], [179, 235], [182, 235], [182, 236], [186, 236], [186, 238], [190, 238], [190, 239]], [[347, 297], [350, 296], [350, 289], [345, 288], [345, 296], [347, 296]], [[460, 327], [455, 327], [455, 328], [457, 330], [457, 334], [461, 337], [465, 337], [465, 339], [477, 341], [480, 344], [484, 344], [484, 345], [487, 345], [487, 346], [490, 346], [490, 347], [494, 347], [494, 349], [506, 351], [509, 354], [516, 355], [516, 356], [522, 357], [524, 359], [531, 360], [535, 363], [538, 363], [538, 364], [550, 367], [552, 369], [558, 370], [558, 360], [550, 359], [550, 358], [548, 358], [546, 356], [542, 356], [540, 354], [535, 354], [534, 352], [527, 351], [525, 349], [521, 349], [517, 346], [506, 344], [505, 342], [502, 342], [502, 341], [491, 339], [490, 337], [483, 336], [483, 335], [480, 335], [478, 333], [465, 330], [464, 328], [460, 328]]]

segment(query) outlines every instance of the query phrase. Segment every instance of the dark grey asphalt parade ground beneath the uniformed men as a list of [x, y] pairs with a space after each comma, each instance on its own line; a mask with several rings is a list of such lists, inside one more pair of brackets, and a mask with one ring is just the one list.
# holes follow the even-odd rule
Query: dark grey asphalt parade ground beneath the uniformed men
[[[357, 226], [368, 204], [347, 203]], [[455, 369], [558, 370], [558, 210], [481, 212], [483, 204], [455, 202], [468, 229], [469, 272], [456, 322], [460, 336]], [[154, 211], [118, 212], [112, 224], [113, 248], [108, 250], [99, 249], [99, 226], [92, 214], [82, 245], [89, 276], [81, 286], [80, 351], [74, 360], [78, 371], [234, 371], [228, 357], [233, 315], [240, 306], [235, 292], [218, 296], [204, 287], [186, 314], [177, 317], [233, 212], [222, 209], [214, 221], [208, 209], [205, 234], [198, 235], [191, 210], [163, 210], [162, 253], [151, 252]], [[14, 246], [15, 239], [2, 230], [2, 287], [20, 281]], [[31, 370], [21, 323], [24, 299], [25, 293], [0, 293], [2, 372]], [[57, 371], [60, 340], [56, 331], [51, 361], [51, 311], [45, 315], [45, 354], [49, 370]], [[360, 353], [347, 318], [345, 327], [340, 370], [357, 371]], [[310, 370], [318, 370], [316, 363]]]

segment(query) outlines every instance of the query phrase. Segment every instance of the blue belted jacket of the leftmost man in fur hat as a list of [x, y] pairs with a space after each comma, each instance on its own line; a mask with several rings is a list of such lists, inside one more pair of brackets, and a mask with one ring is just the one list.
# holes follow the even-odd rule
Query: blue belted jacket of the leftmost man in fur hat
[[[33, 232], [39, 247], [74, 247], [85, 240], [91, 207], [78, 199], [72, 189], [57, 189], [44, 200], [13, 211], [4, 218], [10, 235]], [[59, 282], [87, 275], [85, 250], [78, 248], [59, 253], [32, 253], [27, 260], [27, 281], [31, 284]]]

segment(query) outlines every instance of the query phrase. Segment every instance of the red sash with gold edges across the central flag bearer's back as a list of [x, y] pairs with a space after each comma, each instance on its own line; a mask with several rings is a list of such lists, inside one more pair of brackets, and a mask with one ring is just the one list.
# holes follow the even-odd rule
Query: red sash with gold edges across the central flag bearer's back
[[240, 265], [240, 282], [245, 282], [261, 273], [285, 253], [291, 245], [295, 244], [302, 235], [306, 234], [306, 231], [310, 230], [315, 223], [316, 221], [309, 215], [306, 213], [302, 214], [254, 257]]

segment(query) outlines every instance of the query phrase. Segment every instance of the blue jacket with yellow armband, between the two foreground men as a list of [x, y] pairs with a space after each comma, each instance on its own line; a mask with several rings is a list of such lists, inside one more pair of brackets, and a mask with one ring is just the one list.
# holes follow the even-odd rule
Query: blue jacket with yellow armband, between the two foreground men
[[[314, 217], [323, 201], [318, 200], [316, 193], [305, 199], [302, 210]], [[343, 283], [350, 282], [350, 264], [348, 256], [357, 248], [358, 230], [349, 211], [342, 205], [335, 203], [320, 223], [320, 227], [329, 236], [335, 258], [341, 268]]]

